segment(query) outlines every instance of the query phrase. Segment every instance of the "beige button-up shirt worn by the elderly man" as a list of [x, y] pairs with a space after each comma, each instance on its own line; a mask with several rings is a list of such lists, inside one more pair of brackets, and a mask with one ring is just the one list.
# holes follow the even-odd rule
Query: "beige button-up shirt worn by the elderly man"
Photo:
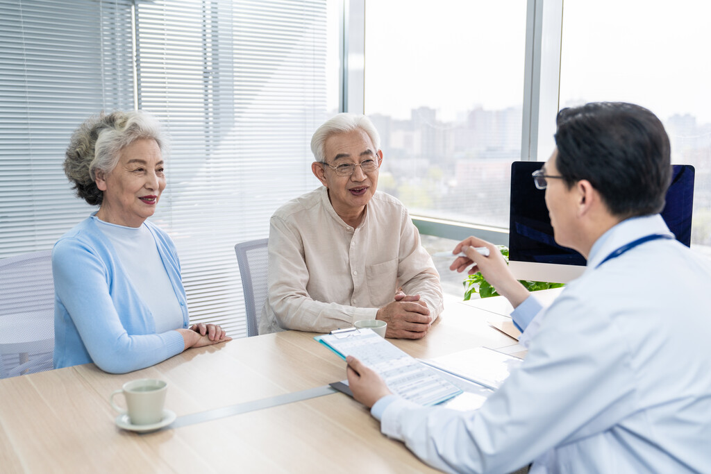
[[439, 274], [405, 206], [377, 191], [353, 229], [333, 210], [326, 188], [318, 188], [272, 215], [260, 334], [350, 328], [375, 319], [400, 287], [419, 294], [433, 320], [442, 312]]

